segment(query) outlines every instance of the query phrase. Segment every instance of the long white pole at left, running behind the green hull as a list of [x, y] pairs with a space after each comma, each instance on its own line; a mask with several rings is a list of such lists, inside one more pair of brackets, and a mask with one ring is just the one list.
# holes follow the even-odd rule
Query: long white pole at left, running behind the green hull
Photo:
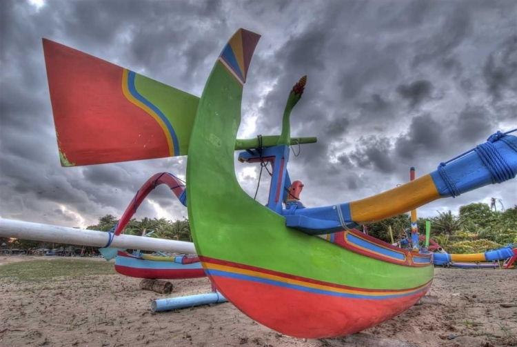
[[[104, 247], [109, 240], [108, 232], [68, 228], [65, 226], [50, 226], [48, 224], [14, 221], [3, 218], [0, 219], [0, 236], [94, 247]], [[196, 254], [196, 248], [194, 248], [192, 242], [123, 234], [114, 237], [110, 247]]]

